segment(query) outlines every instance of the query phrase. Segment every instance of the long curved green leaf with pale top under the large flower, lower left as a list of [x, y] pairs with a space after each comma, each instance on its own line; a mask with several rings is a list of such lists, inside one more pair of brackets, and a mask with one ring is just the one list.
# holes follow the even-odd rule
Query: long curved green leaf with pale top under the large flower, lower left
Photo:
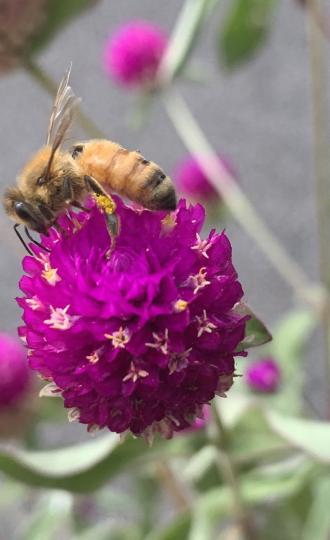
[[57, 450], [37, 451], [0, 445], [0, 470], [32, 486], [88, 492], [143, 459], [180, 455], [189, 441], [177, 437], [148, 448], [142, 439], [119, 441], [115, 434]]

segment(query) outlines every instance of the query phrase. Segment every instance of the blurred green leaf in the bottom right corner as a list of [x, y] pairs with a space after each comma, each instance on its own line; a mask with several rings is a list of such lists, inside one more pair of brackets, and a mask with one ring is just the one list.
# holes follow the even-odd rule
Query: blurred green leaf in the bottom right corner
[[301, 540], [329, 540], [330, 478], [319, 479]]

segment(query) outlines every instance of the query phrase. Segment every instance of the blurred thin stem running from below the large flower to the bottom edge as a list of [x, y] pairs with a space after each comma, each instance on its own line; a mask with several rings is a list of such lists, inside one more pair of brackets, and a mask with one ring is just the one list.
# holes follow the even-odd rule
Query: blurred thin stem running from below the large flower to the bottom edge
[[239, 527], [244, 540], [257, 540], [255, 527], [251, 516], [245, 507], [244, 500], [241, 495], [236, 467], [230, 454], [229, 433], [223, 425], [221, 416], [214, 402], [212, 405], [212, 416], [214, 434], [211, 435], [210, 438], [218, 450], [217, 466], [219, 472], [225, 479], [231, 491], [233, 512], [236, 518], [237, 526]]

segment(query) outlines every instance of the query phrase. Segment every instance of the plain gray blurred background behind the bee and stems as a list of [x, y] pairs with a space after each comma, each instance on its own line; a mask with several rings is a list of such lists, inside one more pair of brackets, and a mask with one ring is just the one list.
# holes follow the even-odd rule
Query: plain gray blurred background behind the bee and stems
[[[305, 20], [294, 0], [282, 0], [267, 45], [250, 64], [228, 75], [219, 69], [216, 32], [228, 0], [219, 2], [194, 51], [192, 62], [203, 66], [206, 84], [181, 83], [181, 90], [212, 144], [227, 156], [240, 183], [274, 233], [303, 266], [317, 277], [315, 208], [312, 185], [311, 110]], [[169, 173], [185, 149], [160, 103], [149, 122], [132, 131], [127, 122], [134, 96], [114, 86], [101, 68], [104, 40], [118, 25], [142, 18], [168, 32], [174, 26], [179, 0], [103, 0], [68, 26], [39, 61], [59, 81], [73, 62], [72, 86], [83, 108], [109, 138], [159, 162]], [[1, 190], [15, 182], [25, 161], [45, 140], [51, 98], [24, 71], [0, 80]], [[77, 137], [83, 132], [76, 131]], [[22, 246], [1, 210], [0, 328], [15, 331], [20, 311], [14, 301], [21, 275]], [[293, 306], [291, 290], [268, 260], [233, 221], [227, 232], [247, 302], [270, 326]], [[315, 351], [314, 351], [315, 352]], [[320, 354], [317, 355], [320, 357]], [[312, 355], [312, 383], [322, 373]], [[319, 359], [321, 362], [321, 359]]]

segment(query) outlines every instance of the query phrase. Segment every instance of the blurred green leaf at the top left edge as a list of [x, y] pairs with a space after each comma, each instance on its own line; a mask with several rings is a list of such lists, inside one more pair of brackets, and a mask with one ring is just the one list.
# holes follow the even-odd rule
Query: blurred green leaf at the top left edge
[[48, 42], [85, 9], [93, 7], [98, 0], [47, 0], [44, 23], [33, 35], [27, 56], [45, 47]]

